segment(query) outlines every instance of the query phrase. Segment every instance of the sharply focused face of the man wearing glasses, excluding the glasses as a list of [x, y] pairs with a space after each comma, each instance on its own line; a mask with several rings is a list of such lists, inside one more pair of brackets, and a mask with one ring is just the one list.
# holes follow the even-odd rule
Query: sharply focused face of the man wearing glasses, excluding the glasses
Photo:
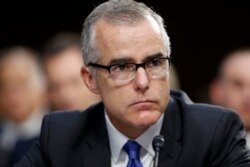
[[[143, 63], [152, 55], [166, 55], [155, 21], [136, 25], [113, 25], [103, 20], [96, 25], [101, 55], [98, 64], [126, 61]], [[129, 137], [137, 137], [160, 118], [169, 100], [169, 76], [151, 79], [138, 68], [133, 80], [117, 85], [106, 70], [96, 70], [96, 88], [113, 125]]]

